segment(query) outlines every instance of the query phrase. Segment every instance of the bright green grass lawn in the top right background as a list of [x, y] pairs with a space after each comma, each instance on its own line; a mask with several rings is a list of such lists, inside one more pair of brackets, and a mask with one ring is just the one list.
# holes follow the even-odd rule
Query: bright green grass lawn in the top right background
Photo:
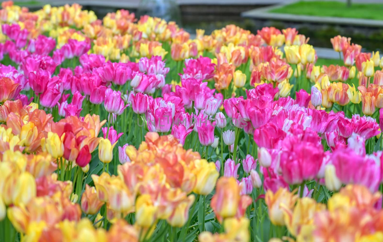
[[344, 0], [342, 2], [301, 1], [270, 10], [270, 13], [383, 20], [382, 11], [383, 4], [352, 3], [348, 8]]

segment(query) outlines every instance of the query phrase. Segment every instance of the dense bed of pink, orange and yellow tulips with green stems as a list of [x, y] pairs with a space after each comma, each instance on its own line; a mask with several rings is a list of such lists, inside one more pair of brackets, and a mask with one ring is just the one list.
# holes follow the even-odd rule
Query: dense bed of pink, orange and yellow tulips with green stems
[[0, 19], [1, 241], [382, 240], [379, 52], [336, 36], [321, 67], [296, 29], [190, 39], [77, 4]]

